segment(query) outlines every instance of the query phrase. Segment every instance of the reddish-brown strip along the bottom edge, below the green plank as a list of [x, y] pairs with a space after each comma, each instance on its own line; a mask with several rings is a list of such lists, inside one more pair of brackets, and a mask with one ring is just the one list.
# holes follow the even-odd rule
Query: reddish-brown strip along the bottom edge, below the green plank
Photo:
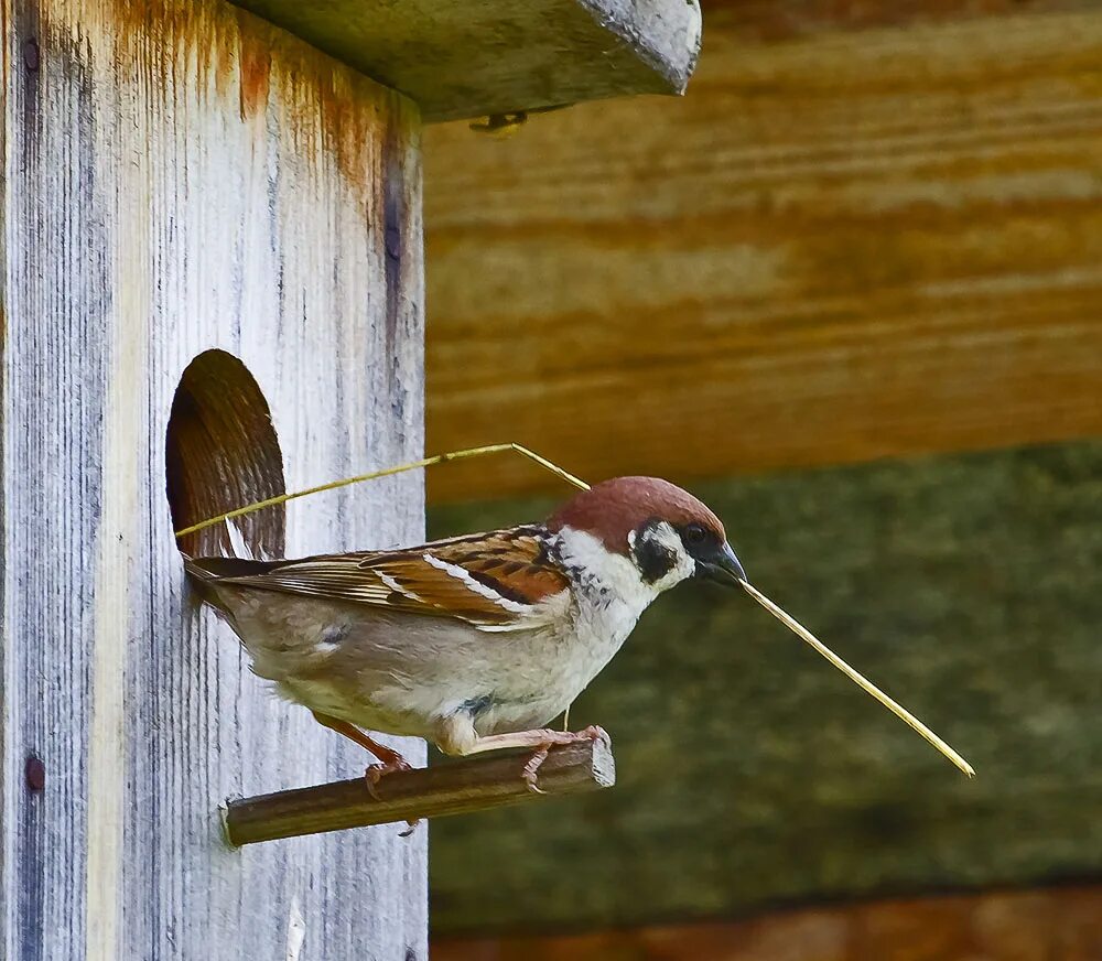
[[1102, 887], [822, 906], [590, 935], [434, 939], [433, 961], [1098, 961]]

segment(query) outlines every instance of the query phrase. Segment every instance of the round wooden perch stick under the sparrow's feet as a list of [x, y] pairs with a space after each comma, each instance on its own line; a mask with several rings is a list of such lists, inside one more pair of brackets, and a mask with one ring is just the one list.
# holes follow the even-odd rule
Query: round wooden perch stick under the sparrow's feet
[[552, 747], [538, 771], [542, 795], [529, 790], [522, 770], [531, 752], [473, 756], [439, 767], [396, 771], [371, 797], [364, 778], [296, 788], [229, 801], [226, 833], [235, 846], [365, 828], [418, 818], [440, 818], [515, 805], [543, 796], [612, 787], [616, 765], [607, 741]]

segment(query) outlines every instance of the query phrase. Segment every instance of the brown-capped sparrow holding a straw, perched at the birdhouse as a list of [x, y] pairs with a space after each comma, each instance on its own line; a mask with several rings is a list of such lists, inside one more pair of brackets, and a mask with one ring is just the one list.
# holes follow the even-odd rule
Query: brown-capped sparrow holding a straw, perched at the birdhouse
[[378, 758], [369, 785], [409, 768], [367, 733], [383, 732], [447, 755], [532, 748], [533, 790], [551, 745], [604, 736], [547, 725], [660, 594], [746, 579], [720, 519], [656, 477], [596, 484], [543, 522], [419, 547], [184, 563], [252, 670]]

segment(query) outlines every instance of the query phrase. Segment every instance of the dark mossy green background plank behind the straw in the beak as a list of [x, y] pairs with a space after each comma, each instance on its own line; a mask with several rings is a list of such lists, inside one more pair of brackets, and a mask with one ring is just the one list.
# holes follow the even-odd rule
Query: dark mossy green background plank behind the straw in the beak
[[[750, 580], [960, 748], [976, 777], [741, 591], [687, 585], [657, 602], [571, 710], [572, 725], [615, 739], [616, 790], [555, 819], [517, 808], [434, 825], [434, 931], [730, 919], [1102, 873], [1102, 443], [694, 493]], [[547, 508], [440, 508], [430, 530]], [[493, 885], [471, 887], [474, 859], [494, 865]]]

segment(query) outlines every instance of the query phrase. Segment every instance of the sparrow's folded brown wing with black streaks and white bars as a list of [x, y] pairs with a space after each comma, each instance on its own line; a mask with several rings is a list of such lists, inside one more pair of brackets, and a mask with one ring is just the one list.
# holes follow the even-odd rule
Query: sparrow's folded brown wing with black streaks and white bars
[[527, 628], [549, 619], [548, 602], [570, 585], [541, 535], [510, 528], [397, 551], [277, 561], [227, 572], [216, 583], [452, 617], [484, 630]]

